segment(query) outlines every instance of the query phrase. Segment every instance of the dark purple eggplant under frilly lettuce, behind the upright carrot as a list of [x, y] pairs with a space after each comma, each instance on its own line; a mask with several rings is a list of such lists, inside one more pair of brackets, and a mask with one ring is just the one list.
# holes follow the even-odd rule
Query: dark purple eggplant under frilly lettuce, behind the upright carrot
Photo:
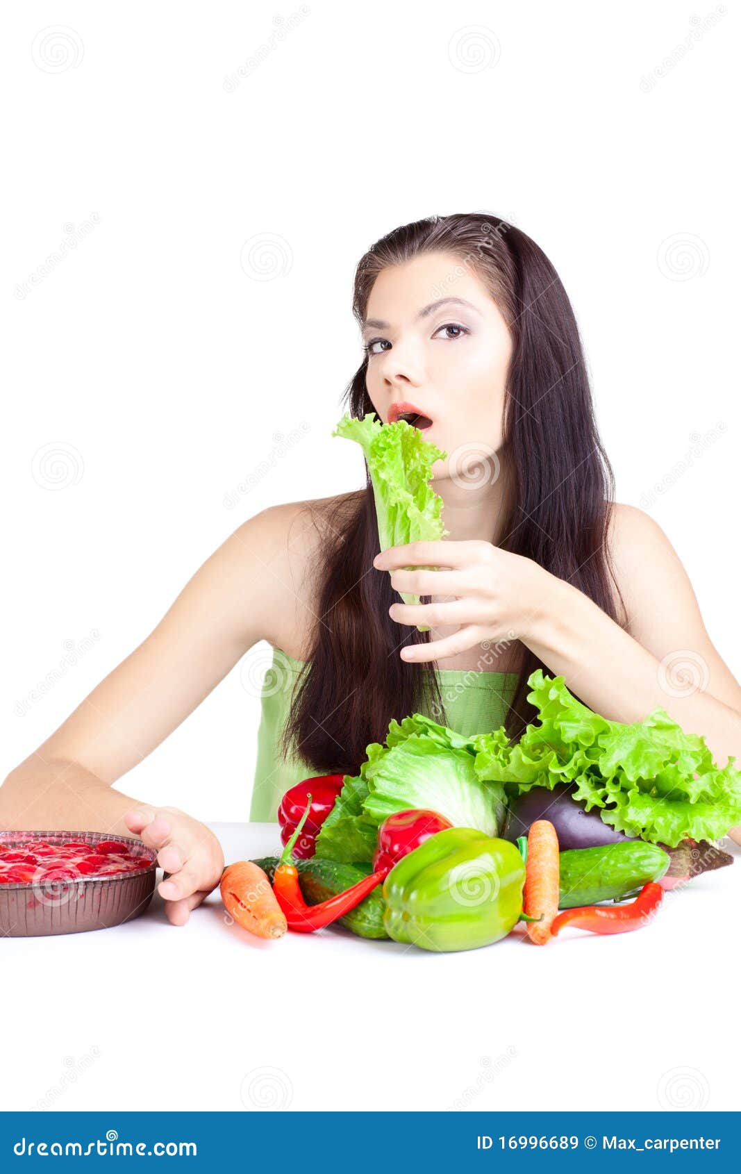
[[532, 787], [525, 791], [507, 809], [504, 828], [499, 834], [501, 839], [514, 843], [518, 836], [527, 835], [535, 819], [551, 821], [561, 851], [568, 848], [601, 848], [622, 839], [635, 839], [635, 836], [626, 836], [605, 823], [599, 808], [585, 811], [572, 798], [572, 791], [571, 783], [559, 783], [552, 790], [547, 787]]

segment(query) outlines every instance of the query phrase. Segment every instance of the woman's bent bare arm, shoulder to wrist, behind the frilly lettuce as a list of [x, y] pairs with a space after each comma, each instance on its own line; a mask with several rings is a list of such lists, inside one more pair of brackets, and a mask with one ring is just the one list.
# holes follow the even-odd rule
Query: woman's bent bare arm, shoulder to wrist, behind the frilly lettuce
[[721, 765], [729, 755], [741, 763], [741, 687], [666, 534], [640, 510], [617, 506], [611, 553], [627, 630], [544, 572], [525, 619], [528, 648], [595, 713], [635, 722], [661, 706], [687, 733], [702, 734]]

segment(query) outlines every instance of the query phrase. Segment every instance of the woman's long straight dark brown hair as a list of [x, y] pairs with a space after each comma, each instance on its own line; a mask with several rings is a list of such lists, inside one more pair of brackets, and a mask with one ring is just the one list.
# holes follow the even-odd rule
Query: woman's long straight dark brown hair
[[[510, 475], [499, 545], [567, 580], [618, 620], [619, 591], [606, 546], [613, 474], [558, 274], [534, 241], [499, 217], [429, 216], [389, 232], [361, 259], [352, 304], [358, 324], [378, 274], [431, 251], [471, 265], [512, 335], [501, 450]], [[353, 417], [375, 411], [366, 369], [368, 357], [343, 396]], [[283, 731], [283, 753], [299, 755], [317, 774], [357, 774], [366, 745], [385, 741], [393, 717], [426, 713], [447, 724], [436, 662], [407, 663], [398, 654], [403, 645], [426, 642], [429, 633], [389, 615], [398, 596], [389, 573], [372, 566], [379, 541], [368, 465], [365, 475], [364, 490], [331, 499], [323, 511], [318, 619]], [[506, 717], [511, 737], [534, 713], [526, 701], [527, 676], [538, 667], [550, 672], [524, 645], [521, 654]]]

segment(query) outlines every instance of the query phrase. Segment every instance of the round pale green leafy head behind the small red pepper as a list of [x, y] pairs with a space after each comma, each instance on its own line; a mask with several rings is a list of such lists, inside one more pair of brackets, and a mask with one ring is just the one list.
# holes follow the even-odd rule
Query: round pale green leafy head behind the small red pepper
[[429, 808], [454, 826], [496, 836], [504, 818], [504, 788], [476, 774], [477, 738], [466, 738], [423, 714], [389, 726], [386, 744], [371, 742], [357, 777], [344, 787], [316, 841], [316, 853], [368, 863], [378, 828], [392, 811]]

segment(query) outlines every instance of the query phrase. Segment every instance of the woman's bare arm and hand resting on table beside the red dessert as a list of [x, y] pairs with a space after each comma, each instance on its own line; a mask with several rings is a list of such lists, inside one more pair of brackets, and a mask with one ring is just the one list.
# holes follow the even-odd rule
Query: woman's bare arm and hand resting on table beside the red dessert
[[[141, 831], [144, 842], [146, 824], [162, 832], [162, 816], [151, 823], [157, 809], [112, 784], [168, 737], [257, 640], [275, 640], [287, 600], [292, 603], [285, 533], [295, 508], [275, 506], [240, 526], [147, 639], [9, 772], [0, 787], [0, 828]], [[134, 807], [144, 821], [124, 821]], [[191, 896], [193, 908], [195, 893], [218, 880], [221, 849], [204, 824], [177, 808], [159, 810], [169, 831], [150, 846], [162, 849], [162, 868], [182, 871], [187, 883], [177, 896]], [[195, 888], [186, 892], [188, 885]], [[173, 885], [162, 896], [174, 897]], [[175, 919], [182, 923], [182, 910]]]

